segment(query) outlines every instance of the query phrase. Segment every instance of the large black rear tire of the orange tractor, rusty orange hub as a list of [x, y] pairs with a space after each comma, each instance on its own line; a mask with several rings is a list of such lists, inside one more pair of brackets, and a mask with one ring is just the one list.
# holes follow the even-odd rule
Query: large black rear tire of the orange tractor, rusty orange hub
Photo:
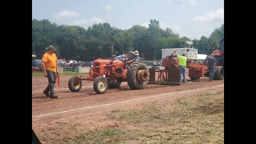
[[[141, 75], [138, 76], [138, 73]], [[132, 90], [144, 89], [147, 86], [149, 70], [145, 63], [141, 60], [134, 61], [127, 70], [126, 74], [127, 84]]]

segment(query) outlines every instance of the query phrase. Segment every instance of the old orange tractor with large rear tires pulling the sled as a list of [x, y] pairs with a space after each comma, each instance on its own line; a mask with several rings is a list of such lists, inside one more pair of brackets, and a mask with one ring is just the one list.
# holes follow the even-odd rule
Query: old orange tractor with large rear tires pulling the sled
[[93, 61], [93, 69], [90, 69], [89, 76], [73, 76], [68, 81], [69, 90], [77, 92], [82, 87], [82, 81], [94, 81], [93, 89], [96, 93], [105, 93], [110, 87], [119, 87], [126, 82], [133, 90], [144, 89], [148, 84], [149, 70], [146, 64], [137, 60], [126, 65], [129, 55], [123, 54], [124, 61], [98, 58]]

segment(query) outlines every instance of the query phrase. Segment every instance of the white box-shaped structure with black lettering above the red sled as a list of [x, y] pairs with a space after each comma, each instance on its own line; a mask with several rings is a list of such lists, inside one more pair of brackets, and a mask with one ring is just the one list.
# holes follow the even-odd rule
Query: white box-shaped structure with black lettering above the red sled
[[162, 49], [162, 60], [165, 59], [168, 55], [171, 55], [175, 50], [178, 55], [182, 55], [185, 52], [185, 57], [188, 60], [198, 60], [197, 59], [197, 49], [193, 48], [175, 48], [175, 49]]

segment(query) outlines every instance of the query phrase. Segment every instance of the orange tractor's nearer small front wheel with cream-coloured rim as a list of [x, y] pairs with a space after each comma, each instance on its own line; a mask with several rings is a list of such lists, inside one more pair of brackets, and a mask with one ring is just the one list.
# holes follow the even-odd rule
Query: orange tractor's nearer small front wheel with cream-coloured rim
[[108, 81], [105, 77], [99, 76], [93, 82], [93, 89], [96, 93], [105, 93], [108, 90]]

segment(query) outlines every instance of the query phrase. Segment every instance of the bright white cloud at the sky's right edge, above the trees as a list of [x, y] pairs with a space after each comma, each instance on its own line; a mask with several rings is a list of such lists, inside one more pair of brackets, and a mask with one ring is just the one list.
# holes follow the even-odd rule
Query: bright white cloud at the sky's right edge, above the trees
[[199, 22], [223, 22], [224, 21], [224, 9], [219, 9], [215, 12], [210, 11], [203, 16], [196, 16], [194, 21]]

